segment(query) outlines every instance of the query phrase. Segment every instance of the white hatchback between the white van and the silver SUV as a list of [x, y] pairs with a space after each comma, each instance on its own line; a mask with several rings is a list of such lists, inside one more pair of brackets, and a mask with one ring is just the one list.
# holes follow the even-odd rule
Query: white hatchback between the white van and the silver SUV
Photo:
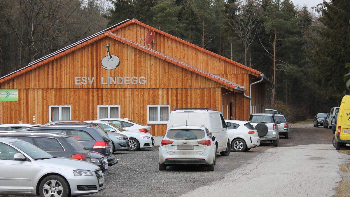
[[258, 131], [247, 121], [225, 120], [231, 140], [231, 148], [235, 152], [248, 151], [260, 145]]

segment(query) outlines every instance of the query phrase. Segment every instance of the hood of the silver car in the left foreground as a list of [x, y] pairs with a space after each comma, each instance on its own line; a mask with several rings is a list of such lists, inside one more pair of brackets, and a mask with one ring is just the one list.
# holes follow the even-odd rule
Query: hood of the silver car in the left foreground
[[32, 161], [33, 166], [44, 168], [59, 168], [59, 169], [71, 169], [71, 170], [90, 170], [95, 171], [99, 167], [90, 162], [81, 161], [78, 159], [70, 159], [65, 157], [57, 157], [51, 159], [40, 159]]

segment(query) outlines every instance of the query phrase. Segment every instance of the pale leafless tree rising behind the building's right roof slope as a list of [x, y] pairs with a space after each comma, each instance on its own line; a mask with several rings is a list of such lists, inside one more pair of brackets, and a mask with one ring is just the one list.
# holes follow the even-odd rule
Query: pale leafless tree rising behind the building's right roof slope
[[256, 0], [246, 0], [240, 3], [238, 12], [228, 16], [228, 23], [237, 33], [244, 46], [244, 63], [247, 65], [247, 53], [249, 46], [257, 34], [257, 27], [260, 15], [257, 12], [258, 3]]

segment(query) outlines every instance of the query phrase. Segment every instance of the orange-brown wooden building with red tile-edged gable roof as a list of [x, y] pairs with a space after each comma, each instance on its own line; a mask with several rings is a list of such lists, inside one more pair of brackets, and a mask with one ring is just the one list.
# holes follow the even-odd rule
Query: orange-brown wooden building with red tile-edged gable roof
[[[144, 42], [154, 31], [154, 42]], [[143, 39], [140, 39], [143, 38]], [[110, 53], [107, 53], [106, 47]], [[18, 90], [0, 102], [0, 123], [127, 117], [165, 133], [173, 108], [217, 108], [224, 118], [246, 120], [265, 109], [261, 72], [176, 38], [135, 19], [126, 20], [0, 78]]]

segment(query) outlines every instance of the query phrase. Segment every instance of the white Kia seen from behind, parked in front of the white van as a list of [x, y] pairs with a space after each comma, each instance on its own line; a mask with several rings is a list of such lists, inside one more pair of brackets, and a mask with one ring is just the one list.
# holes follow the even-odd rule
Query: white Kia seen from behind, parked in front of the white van
[[159, 147], [159, 170], [170, 165], [207, 165], [214, 171], [216, 145], [209, 130], [199, 125], [176, 125], [167, 129]]

